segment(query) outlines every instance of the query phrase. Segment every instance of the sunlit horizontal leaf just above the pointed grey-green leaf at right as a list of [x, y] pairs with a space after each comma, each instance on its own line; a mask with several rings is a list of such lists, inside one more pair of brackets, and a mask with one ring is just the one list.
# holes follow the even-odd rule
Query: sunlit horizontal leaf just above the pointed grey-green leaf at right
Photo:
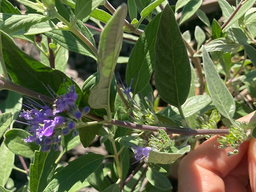
[[223, 51], [237, 53], [242, 50], [242, 46], [236, 43], [227, 41], [225, 38], [218, 38], [210, 41], [204, 46], [207, 52]]

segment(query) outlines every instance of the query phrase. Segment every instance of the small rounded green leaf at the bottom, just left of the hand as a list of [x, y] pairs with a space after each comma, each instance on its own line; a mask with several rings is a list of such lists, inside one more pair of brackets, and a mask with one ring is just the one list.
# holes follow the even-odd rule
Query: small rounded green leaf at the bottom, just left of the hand
[[159, 190], [172, 190], [172, 184], [170, 183], [169, 179], [153, 169], [148, 169], [146, 171], [146, 178], [151, 185]]

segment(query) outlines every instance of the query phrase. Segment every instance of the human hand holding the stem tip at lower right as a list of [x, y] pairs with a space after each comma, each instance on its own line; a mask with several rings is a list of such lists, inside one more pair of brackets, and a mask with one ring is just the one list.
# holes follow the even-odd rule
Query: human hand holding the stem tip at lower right
[[[255, 121], [254, 113], [238, 121]], [[242, 143], [238, 154], [227, 156], [232, 149], [218, 149], [217, 138], [215, 135], [182, 159], [178, 191], [256, 191], [256, 139]]]

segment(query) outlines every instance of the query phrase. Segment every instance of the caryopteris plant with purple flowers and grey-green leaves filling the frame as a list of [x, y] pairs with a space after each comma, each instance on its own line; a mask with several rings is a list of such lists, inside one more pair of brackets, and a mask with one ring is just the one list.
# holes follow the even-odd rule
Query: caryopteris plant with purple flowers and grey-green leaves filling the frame
[[[219, 0], [214, 17], [202, 0], [13, 3], [0, 1], [0, 191], [171, 191], [174, 162], [198, 140], [221, 134], [235, 155], [256, 137], [253, 122], [235, 120], [255, 110], [255, 0]], [[65, 74], [69, 52], [97, 65], [82, 86]], [[105, 153], [65, 163], [95, 138]], [[12, 170], [26, 181], [18, 186]]]

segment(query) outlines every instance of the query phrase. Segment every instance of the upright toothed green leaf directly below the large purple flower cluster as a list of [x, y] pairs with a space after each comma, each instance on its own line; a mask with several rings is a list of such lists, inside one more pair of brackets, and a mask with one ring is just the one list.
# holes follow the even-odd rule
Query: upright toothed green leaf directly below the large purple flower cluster
[[46, 188], [57, 164], [54, 163], [59, 151], [51, 150], [50, 153], [35, 151], [34, 161], [30, 166], [30, 191], [41, 192]]

